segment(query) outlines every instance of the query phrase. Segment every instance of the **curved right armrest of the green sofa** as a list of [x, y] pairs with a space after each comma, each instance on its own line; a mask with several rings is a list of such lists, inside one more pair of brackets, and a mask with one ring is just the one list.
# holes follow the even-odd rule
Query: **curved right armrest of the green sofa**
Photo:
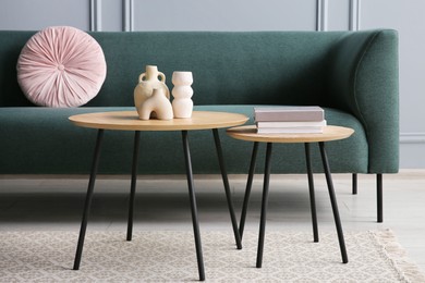
[[366, 30], [341, 38], [331, 54], [329, 106], [363, 124], [368, 140], [368, 172], [399, 169], [398, 33]]

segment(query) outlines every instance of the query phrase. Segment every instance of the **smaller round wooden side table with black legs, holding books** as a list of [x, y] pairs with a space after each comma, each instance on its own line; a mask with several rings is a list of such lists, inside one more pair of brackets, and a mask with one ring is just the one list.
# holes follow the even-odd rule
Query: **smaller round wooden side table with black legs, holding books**
[[314, 134], [257, 134], [255, 125], [239, 126], [239, 127], [232, 127], [227, 130], [227, 134], [233, 138], [254, 143], [252, 158], [251, 158], [250, 173], [246, 183], [245, 197], [243, 201], [241, 220], [239, 225], [239, 233], [241, 235], [241, 238], [243, 236], [243, 230], [245, 226], [246, 211], [247, 211], [251, 187], [254, 177], [258, 143], [267, 144], [266, 163], [265, 163], [264, 183], [263, 183], [262, 216], [260, 216], [260, 223], [259, 223], [259, 236], [258, 236], [258, 247], [257, 247], [257, 261], [256, 261], [257, 268], [260, 268], [263, 264], [263, 250], [264, 250], [264, 239], [265, 239], [265, 230], [266, 230], [266, 213], [267, 213], [268, 190], [269, 190], [270, 170], [271, 170], [270, 160], [271, 160], [272, 144], [275, 143], [286, 143], [286, 144], [303, 143], [304, 144], [305, 160], [306, 160], [307, 176], [308, 176], [314, 242], [318, 242], [318, 229], [317, 229], [317, 214], [316, 214], [313, 171], [312, 171], [311, 157], [309, 157], [311, 156], [309, 145], [312, 143], [318, 143], [320, 149], [321, 162], [326, 175], [326, 182], [328, 184], [328, 192], [329, 192], [330, 202], [332, 206], [333, 219], [337, 227], [342, 262], [347, 263], [349, 261], [347, 256], [347, 248], [345, 248], [345, 242], [342, 232], [341, 220], [338, 211], [337, 198], [335, 195], [332, 179], [329, 169], [329, 162], [325, 150], [325, 142], [348, 138], [353, 133], [354, 131], [352, 128], [342, 127], [342, 126], [325, 126], [324, 132], [318, 134], [316, 133]]

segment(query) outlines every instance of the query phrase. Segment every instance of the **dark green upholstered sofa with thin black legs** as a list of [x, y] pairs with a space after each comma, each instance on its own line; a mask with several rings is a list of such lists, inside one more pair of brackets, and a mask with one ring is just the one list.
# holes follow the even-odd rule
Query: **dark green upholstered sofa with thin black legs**
[[[323, 107], [328, 124], [355, 130], [328, 144], [331, 171], [354, 181], [357, 173], [377, 174], [381, 221], [381, 176], [399, 169], [397, 32], [89, 33], [108, 73], [92, 101], [71, 109], [36, 107], [20, 89], [16, 61], [34, 34], [0, 30], [0, 174], [89, 173], [96, 131], [68, 118], [134, 109], [133, 89], [150, 64], [170, 89], [173, 71], [193, 72], [195, 110], [244, 113], [253, 123], [254, 106]], [[228, 173], [247, 173], [252, 145], [220, 133]], [[133, 133], [107, 131], [99, 173], [130, 174], [132, 143]], [[219, 173], [210, 131], [190, 133], [190, 145], [195, 174]], [[141, 158], [141, 174], [183, 174], [181, 134], [143, 133]], [[313, 163], [321, 172], [317, 149]], [[276, 146], [272, 172], [305, 173], [303, 145]]]

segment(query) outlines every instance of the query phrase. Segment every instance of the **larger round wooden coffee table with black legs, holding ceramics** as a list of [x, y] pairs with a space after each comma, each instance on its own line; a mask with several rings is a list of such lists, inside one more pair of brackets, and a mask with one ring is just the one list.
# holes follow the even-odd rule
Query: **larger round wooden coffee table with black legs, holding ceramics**
[[221, 143], [218, 134], [218, 128], [238, 126], [244, 124], [248, 118], [243, 114], [228, 113], [228, 112], [212, 112], [212, 111], [194, 111], [192, 118], [189, 119], [173, 119], [173, 120], [139, 120], [136, 111], [111, 111], [111, 112], [95, 112], [70, 116], [69, 120], [81, 127], [89, 127], [98, 130], [95, 153], [93, 158], [93, 165], [90, 172], [90, 179], [88, 182], [88, 188], [86, 194], [86, 200], [83, 212], [83, 220], [80, 230], [78, 244], [74, 260], [74, 270], [80, 269], [81, 257], [83, 253], [83, 245], [85, 238], [85, 232], [87, 226], [87, 219], [92, 204], [92, 196], [96, 181], [97, 168], [99, 163], [100, 146], [102, 143], [104, 131], [134, 131], [134, 147], [133, 147], [133, 167], [132, 167], [132, 182], [131, 182], [131, 195], [129, 204], [129, 220], [127, 220], [127, 234], [126, 239], [132, 239], [133, 232], [133, 211], [134, 211], [134, 197], [137, 179], [137, 159], [139, 148], [139, 134], [142, 131], [181, 131], [183, 140], [184, 161], [187, 176], [189, 196], [192, 210], [192, 222], [195, 237], [196, 257], [199, 280], [205, 280], [204, 259], [201, 245], [201, 233], [197, 220], [196, 196], [192, 173], [192, 161], [189, 148], [187, 132], [196, 130], [212, 130], [214, 139], [216, 144], [216, 151], [223, 180], [226, 197], [228, 201], [230, 218], [232, 221], [233, 233], [239, 249], [242, 248], [241, 237], [238, 231], [238, 221], [234, 216], [234, 209], [231, 200], [230, 186], [228, 175], [224, 167], [223, 155], [221, 150]]

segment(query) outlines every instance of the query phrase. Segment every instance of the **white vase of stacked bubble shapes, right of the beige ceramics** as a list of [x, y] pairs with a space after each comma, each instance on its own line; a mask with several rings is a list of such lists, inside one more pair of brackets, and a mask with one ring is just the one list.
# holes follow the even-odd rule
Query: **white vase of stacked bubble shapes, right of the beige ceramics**
[[191, 118], [193, 111], [192, 72], [175, 71], [172, 73], [171, 82], [174, 85], [171, 90], [174, 97], [172, 100], [174, 118]]

